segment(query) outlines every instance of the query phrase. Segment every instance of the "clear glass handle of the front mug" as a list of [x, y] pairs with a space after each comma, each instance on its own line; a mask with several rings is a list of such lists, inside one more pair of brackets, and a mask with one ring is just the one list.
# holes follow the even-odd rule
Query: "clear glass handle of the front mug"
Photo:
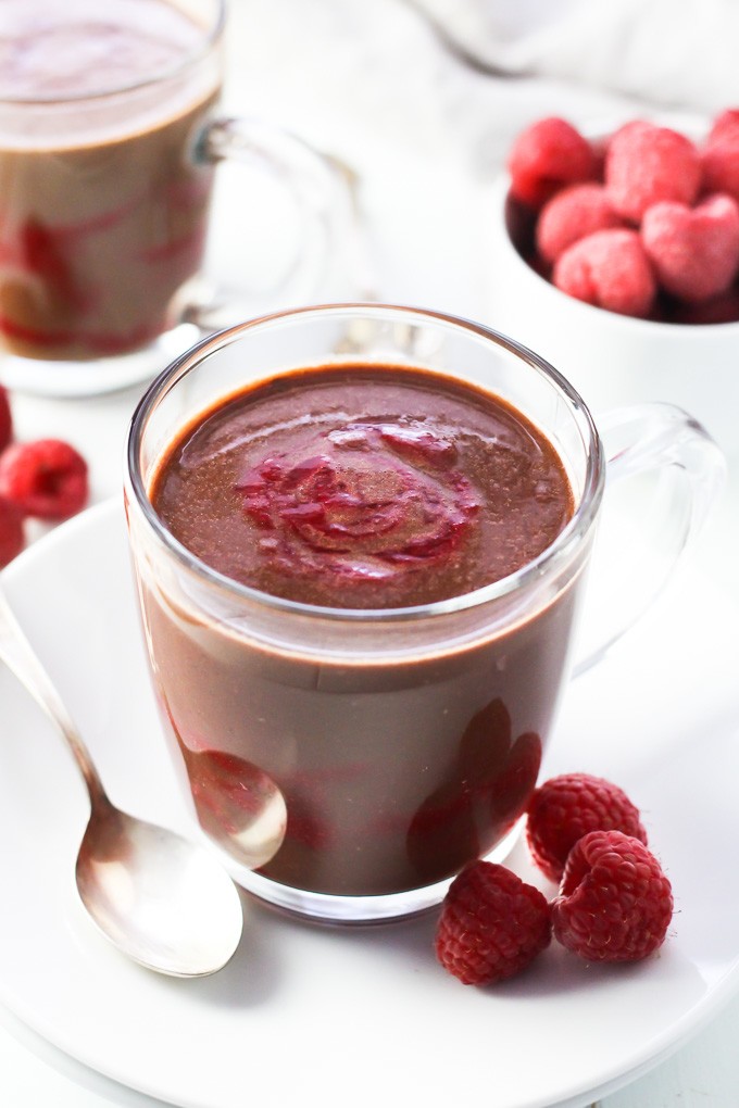
[[[606, 489], [585, 596], [593, 630], [579, 644], [575, 676], [599, 661], [663, 592], [726, 479], [714, 440], [673, 404], [617, 408], [596, 424]], [[618, 503], [626, 484], [628, 513]]]

